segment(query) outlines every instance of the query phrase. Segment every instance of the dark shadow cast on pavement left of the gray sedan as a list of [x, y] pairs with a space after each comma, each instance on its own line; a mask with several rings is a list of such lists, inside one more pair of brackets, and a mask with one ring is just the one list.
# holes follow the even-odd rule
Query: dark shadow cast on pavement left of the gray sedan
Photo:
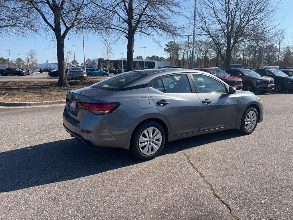
[[73, 138], [29, 148], [0, 153], [0, 192], [71, 180], [143, 162], [128, 150], [89, 147]]

